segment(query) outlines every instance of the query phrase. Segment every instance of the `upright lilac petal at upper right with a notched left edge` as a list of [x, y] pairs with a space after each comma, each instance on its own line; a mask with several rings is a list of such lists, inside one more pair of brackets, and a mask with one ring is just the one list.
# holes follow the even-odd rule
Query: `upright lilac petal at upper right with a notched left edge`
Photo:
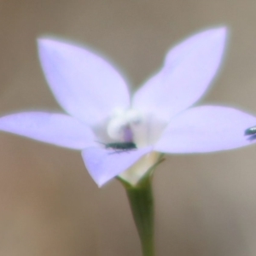
[[224, 53], [226, 28], [186, 39], [166, 56], [164, 67], [137, 91], [134, 108], [170, 120], [207, 90]]

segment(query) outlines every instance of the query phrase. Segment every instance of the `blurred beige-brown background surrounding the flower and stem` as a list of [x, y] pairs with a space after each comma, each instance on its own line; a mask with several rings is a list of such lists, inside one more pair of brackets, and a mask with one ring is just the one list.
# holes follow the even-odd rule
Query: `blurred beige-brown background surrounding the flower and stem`
[[[98, 49], [132, 86], [166, 50], [209, 26], [230, 27], [218, 79], [200, 102], [256, 113], [256, 2], [251, 0], [0, 0], [0, 114], [61, 110], [36, 38]], [[125, 191], [98, 189], [80, 153], [0, 133], [0, 255], [140, 255]], [[256, 145], [171, 155], [154, 176], [157, 255], [254, 256]]]

